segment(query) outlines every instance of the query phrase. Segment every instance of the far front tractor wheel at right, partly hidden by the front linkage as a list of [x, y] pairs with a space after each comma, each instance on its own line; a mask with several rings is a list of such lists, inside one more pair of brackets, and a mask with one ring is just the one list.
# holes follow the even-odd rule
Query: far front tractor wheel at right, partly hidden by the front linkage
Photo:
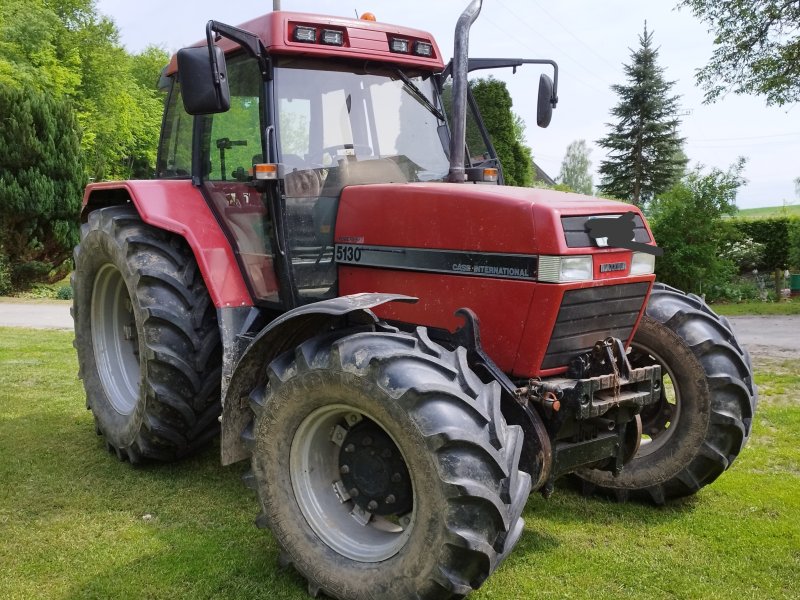
[[656, 504], [694, 494], [730, 467], [750, 435], [750, 356], [699, 297], [655, 284], [628, 358], [634, 367], [661, 365], [661, 400], [640, 415], [642, 443], [619, 476], [578, 472], [584, 492]]

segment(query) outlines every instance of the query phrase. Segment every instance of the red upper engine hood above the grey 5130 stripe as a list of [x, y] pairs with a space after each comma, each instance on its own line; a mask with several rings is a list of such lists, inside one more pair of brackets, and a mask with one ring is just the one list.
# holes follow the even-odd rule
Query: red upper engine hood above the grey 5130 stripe
[[535, 188], [448, 183], [351, 186], [341, 195], [335, 241], [507, 254], [577, 254], [586, 250], [567, 246], [562, 217], [631, 211], [641, 215], [630, 204]]

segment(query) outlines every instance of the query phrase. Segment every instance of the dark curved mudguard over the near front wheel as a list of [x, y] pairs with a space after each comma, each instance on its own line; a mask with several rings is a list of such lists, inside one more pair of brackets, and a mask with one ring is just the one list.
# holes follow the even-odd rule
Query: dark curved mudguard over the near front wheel
[[[222, 377], [222, 464], [244, 460], [250, 452], [241, 440], [241, 433], [252, 418], [250, 392], [266, 382], [267, 366], [284, 352], [327, 331], [357, 326], [374, 326], [378, 317], [370, 310], [387, 302], [416, 302], [417, 298], [399, 294], [352, 294], [300, 306], [284, 313], [264, 327], [253, 338], [237, 336], [247, 346], [239, 352], [225, 352]], [[224, 323], [225, 319], [220, 319]], [[226, 347], [234, 347], [232, 332], [225, 333]], [[238, 362], [235, 366], [232, 363]]]

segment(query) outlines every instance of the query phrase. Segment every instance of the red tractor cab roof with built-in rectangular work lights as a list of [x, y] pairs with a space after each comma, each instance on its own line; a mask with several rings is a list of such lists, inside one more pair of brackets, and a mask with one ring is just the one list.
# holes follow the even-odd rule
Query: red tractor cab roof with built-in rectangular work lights
[[[294, 32], [298, 26], [342, 31], [344, 33], [343, 45], [330, 46], [322, 43], [295, 41]], [[264, 16], [242, 23], [238, 27], [261, 38], [261, 42], [270, 55], [378, 60], [433, 72], [440, 72], [444, 69], [444, 62], [436, 40], [433, 39], [430, 33], [419, 29], [362, 19], [283, 11], [267, 13]], [[427, 42], [433, 47], [433, 56], [426, 57], [392, 52], [389, 47], [392, 38], [408, 40], [410, 46], [413, 46], [414, 42]], [[197, 42], [194, 45], [205, 46], [206, 40]], [[220, 40], [219, 46], [226, 54], [230, 54], [239, 48], [238, 44], [226, 38]], [[173, 56], [167, 67], [166, 74], [173, 75], [177, 71], [177, 64], [177, 57]]]

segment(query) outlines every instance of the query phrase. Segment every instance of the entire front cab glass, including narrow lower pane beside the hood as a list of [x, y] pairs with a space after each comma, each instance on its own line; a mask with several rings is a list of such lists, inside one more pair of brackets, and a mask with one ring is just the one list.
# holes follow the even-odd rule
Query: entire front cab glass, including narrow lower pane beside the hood
[[433, 76], [377, 63], [283, 59], [274, 106], [295, 286], [305, 302], [333, 297], [342, 189], [447, 177], [446, 125]]

